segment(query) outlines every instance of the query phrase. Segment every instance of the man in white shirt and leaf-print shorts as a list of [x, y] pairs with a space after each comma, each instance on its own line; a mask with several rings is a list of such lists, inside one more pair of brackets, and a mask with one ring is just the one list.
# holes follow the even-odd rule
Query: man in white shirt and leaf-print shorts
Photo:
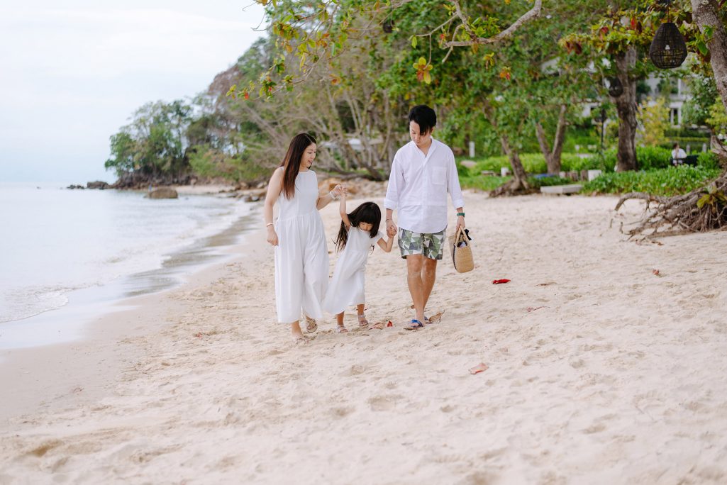
[[386, 191], [386, 232], [397, 232], [393, 221], [398, 214], [398, 236], [401, 257], [406, 259], [406, 282], [409, 284], [414, 318], [407, 330], [422, 328], [429, 320], [424, 315], [434, 287], [437, 261], [446, 247], [447, 192], [457, 209], [457, 227], [465, 228], [462, 189], [451, 149], [435, 140], [432, 132], [437, 115], [426, 105], [414, 106], [409, 112], [411, 142], [394, 156]]

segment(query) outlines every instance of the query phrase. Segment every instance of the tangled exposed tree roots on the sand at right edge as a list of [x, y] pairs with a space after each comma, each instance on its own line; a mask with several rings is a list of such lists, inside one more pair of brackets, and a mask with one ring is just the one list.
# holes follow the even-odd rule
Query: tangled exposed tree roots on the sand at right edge
[[[702, 207], [697, 207], [697, 201], [707, 195], [707, 189], [712, 188], [715, 196], [707, 197]], [[646, 201], [643, 218], [638, 225], [627, 231], [630, 237], [662, 237], [675, 236], [685, 233], [700, 233], [715, 230], [727, 230], [727, 204], [720, 200], [718, 194], [727, 193], [727, 172], [724, 172], [707, 188], [699, 188], [689, 193], [674, 197], [652, 196], [648, 193], [630, 192], [624, 194], [616, 204], [618, 210], [629, 199]], [[656, 208], [651, 208], [651, 203]]]

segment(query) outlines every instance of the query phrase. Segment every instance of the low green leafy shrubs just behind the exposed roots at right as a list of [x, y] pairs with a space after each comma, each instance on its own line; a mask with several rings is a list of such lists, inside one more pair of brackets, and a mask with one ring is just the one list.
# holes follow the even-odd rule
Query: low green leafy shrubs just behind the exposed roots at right
[[675, 196], [702, 187], [718, 175], [719, 169], [688, 165], [648, 172], [614, 172], [603, 174], [586, 183], [583, 192], [646, 192], [655, 196]]

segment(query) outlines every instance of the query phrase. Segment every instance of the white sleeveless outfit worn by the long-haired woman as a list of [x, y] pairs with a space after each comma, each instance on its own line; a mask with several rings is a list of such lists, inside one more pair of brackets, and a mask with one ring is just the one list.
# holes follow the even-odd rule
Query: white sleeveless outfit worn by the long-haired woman
[[278, 197], [275, 299], [281, 324], [300, 320], [301, 310], [311, 318], [323, 318], [329, 259], [317, 200], [318, 179], [310, 170], [298, 173], [292, 199], [284, 193]]

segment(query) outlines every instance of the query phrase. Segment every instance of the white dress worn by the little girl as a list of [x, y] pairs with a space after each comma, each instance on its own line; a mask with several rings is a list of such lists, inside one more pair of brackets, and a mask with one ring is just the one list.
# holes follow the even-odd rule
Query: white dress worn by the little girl
[[333, 278], [326, 292], [323, 308], [329, 313], [337, 315], [350, 305], [366, 303], [364, 295], [364, 276], [366, 261], [369, 260], [371, 245], [377, 244], [384, 234], [379, 231], [371, 237], [369, 231], [361, 231], [353, 227], [348, 230], [348, 241], [338, 257]]

